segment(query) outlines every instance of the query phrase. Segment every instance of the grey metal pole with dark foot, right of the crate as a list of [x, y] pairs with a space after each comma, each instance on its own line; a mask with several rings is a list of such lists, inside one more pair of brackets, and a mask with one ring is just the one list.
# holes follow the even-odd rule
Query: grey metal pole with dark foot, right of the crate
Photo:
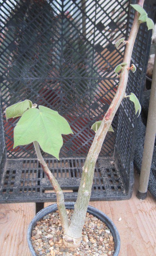
[[154, 141], [156, 134], [156, 51], [154, 59], [154, 68], [152, 76], [152, 86], [150, 103], [148, 109], [148, 118], [146, 125], [145, 144], [140, 172], [139, 188], [137, 197], [145, 199], [147, 196], [147, 187], [151, 170], [152, 155], [154, 149]]

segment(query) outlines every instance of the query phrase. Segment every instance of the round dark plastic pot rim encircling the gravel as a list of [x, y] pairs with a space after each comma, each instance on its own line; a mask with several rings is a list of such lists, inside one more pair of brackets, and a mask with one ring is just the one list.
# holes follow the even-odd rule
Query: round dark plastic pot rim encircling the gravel
[[[75, 204], [75, 202], [66, 202], [65, 203], [66, 209], [74, 209], [74, 204]], [[32, 256], [38, 256], [32, 247], [32, 242], [31, 242], [32, 228], [36, 225], [37, 221], [41, 220], [47, 214], [49, 214], [51, 212], [55, 212], [56, 210], [58, 210], [57, 204], [52, 204], [52, 205], [47, 206], [46, 208], [39, 211], [35, 215], [35, 217], [32, 219], [31, 223], [29, 224], [28, 232], [27, 232], [27, 241], [28, 241], [29, 249], [31, 251]], [[115, 249], [114, 249], [113, 256], [118, 256], [119, 251], [120, 251], [120, 236], [119, 236], [117, 228], [114, 225], [114, 223], [112, 222], [112, 220], [110, 220], [110, 218], [106, 214], [104, 214], [100, 210], [94, 208], [93, 206], [88, 206], [87, 212], [96, 216], [98, 219], [102, 220], [107, 225], [107, 227], [110, 229], [110, 232], [112, 233], [112, 236], [114, 238], [114, 243], [115, 243]]]

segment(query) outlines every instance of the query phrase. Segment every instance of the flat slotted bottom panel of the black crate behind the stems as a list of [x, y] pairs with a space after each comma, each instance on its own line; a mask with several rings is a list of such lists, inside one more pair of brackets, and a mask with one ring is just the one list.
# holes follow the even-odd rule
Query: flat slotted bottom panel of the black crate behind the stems
[[[76, 200], [85, 158], [47, 159], [46, 163], [58, 180], [65, 200]], [[18, 168], [17, 168], [18, 167]], [[0, 186], [1, 202], [55, 201], [56, 196], [49, 180], [36, 159], [8, 159]], [[73, 191], [73, 192], [72, 192]], [[125, 198], [124, 184], [111, 158], [99, 158], [96, 162], [91, 200]]]

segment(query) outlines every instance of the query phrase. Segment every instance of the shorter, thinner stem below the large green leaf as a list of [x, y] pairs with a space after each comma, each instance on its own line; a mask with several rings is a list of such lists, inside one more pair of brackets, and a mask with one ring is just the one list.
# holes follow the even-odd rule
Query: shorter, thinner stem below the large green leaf
[[52, 184], [54, 191], [56, 193], [57, 207], [58, 207], [58, 211], [59, 211], [59, 215], [60, 215], [60, 221], [62, 224], [63, 231], [66, 232], [66, 230], [69, 227], [69, 221], [68, 221], [67, 211], [65, 208], [64, 196], [63, 196], [62, 189], [60, 188], [59, 183], [57, 182], [57, 180], [55, 179], [55, 177], [49, 170], [45, 160], [43, 159], [40, 148], [39, 148], [39, 143], [37, 141], [34, 141], [33, 144], [35, 147], [35, 151], [36, 151], [36, 155], [39, 160], [39, 163], [42, 166], [44, 172], [46, 173], [46, 176], [48, 177], [48, 179], [49, 179], [50, 183]]

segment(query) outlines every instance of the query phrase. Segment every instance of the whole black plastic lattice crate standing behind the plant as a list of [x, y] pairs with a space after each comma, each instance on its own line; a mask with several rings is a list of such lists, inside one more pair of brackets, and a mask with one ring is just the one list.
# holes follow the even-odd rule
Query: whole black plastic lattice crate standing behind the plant
[[[131, 1], [135, 3], [135, 1]], [[153, 18], [154, 1], [145, 1]], [[13, 150], [17, 120], [5, 121], [9, 105], [30, 99], [63, 115], [74, 135], [63, 136], [60, 161], [43, 153], [51, 172], [74, 201], [85, 156], [116, 91], [113, 72], [122, 62], [134, 10], [120, 1], [3, 1], [0, 7], [0, 201], [55, 201], [51, 185], [37, 161], [33, 145]], [[127, 94], [138, 98], [145, 83], [151, 31], [141, 24], [132, 53], [137, 71], [130, 72]], [[17, 118], [18, 119], [18, 118]], [[133, 154], [137, 117], [124, 99], [96, 163], [91, 200], [128, 199], [133, 185]]]

